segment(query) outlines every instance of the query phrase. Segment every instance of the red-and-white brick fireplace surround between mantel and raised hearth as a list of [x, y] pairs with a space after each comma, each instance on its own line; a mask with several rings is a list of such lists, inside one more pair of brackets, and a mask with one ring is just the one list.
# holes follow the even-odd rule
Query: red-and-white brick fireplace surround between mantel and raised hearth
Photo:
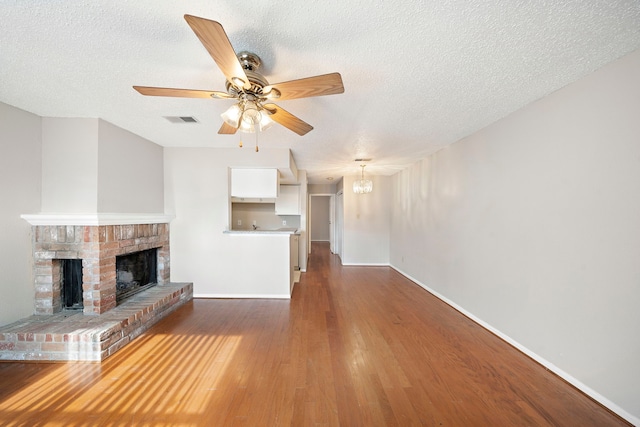
[[33, 225], [35, 314], [63, 309], [61, 265], [82, 260], [83, 312], [116, 306], [116, 257], [157, 249], [157, 281], [169, 282], [169, 224]]

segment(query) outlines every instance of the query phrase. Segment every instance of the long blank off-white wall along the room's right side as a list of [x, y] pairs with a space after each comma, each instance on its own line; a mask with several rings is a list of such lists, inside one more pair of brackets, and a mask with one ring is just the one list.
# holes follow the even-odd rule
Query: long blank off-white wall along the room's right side
[[397, 174], [391, 199], [394, 267], [635, 423], [638, 76], [640, 51]]

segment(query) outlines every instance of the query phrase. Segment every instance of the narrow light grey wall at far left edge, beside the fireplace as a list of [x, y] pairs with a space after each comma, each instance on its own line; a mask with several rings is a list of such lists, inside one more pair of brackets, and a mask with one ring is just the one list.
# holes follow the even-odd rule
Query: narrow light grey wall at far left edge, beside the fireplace
[[33, 313], [31, 226], [40, 210], [41, 118], [0, 103], [0, 325]]

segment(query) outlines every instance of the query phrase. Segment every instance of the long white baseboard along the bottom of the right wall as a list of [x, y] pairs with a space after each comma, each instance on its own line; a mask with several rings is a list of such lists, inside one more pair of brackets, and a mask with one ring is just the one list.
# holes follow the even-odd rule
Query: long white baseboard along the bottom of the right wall
[[493, 326], [491, 326], [490, 324], [488, 324], [484, 320], [476, 317], [472, 313], [470, 313], [467, 310], [465, 310], [464, 308], [460, 307], [458, 304], [456, 304], [455, 302], [451, 301], [447, 297], [439, 294], [438, 292], [434, 291], [433, 289], [431, 289], [427, 285], [421, 283], [420, 281], [414, 279], [410, 275], [404, 273], [402, 270], [400, 270], [396, 266], [394, 266], [394, 265], [389, 265], [389, 266], [391, 268], [393, 268], [395, 271], [397, 271], [398, 273], [402, 274], [407, 279], [411, 280], [412, 282], [414, 282], [415, 284], [417, 284], [418, 286], [420, 286], [421, 288], [423, 288], [424, 290], [429, 292], [430, 294], [432, 294], [433, 296], [435, 296], [436, 298], [440, 299], [445, 304], [451, 306], [453, 309], [459, 311], [464, 316], [468, 317], [472, 321], [476, 322], [478, 325], [482, 326], [484, 329], [488, 330], [489, 332], [491, 332], [492, 334], [494, 334], [498, 338], [502, 339], [507, 344], [510, 344], [511, 346], [515, 347], [516, 349], [518, 349], [522, 353], [526, 354], [527, 356], [529, 356], [530, 358], [532, 358], [533, 360], [535, 360], [536, 362], [538, 362], [539, 364], [541, 364], [542, 366], [544, 366], [545, 368], [547, 368], [548, 370], [553, 372], [554, 374], [558, 375], [560, 378], [562, 378], [563, 380], [565, 380], [569, 384], [573, 385], [575, 388], [577, 388], [578, 390], [582, 391], [584, 394], [586, 394], [587, 396], [591, 397], [593, 400], [595, 400], [595, 401], [599, 402], [601, 405], [607, 407], [612, 412], [615, 412], [616, 414], [618, 414], [619, 416], [621, 416], [625, 420], [629, 421], [631, 424], [640, 426], [640, 418], [628, 413], [627, 411], [625, 411], [624, 409], [622, 409], [621, 407], [619, 407], [618, 405], [616, 405], [615, 403], [613, 403], [612, 401], [610, 401], [609, 399], [607, 399], [606, 397], [601, 395], [600, 393], [596, 392], [595, 390], [593, 390], [590, 387], [588, 387], [587, 385], [583, 384], [582, 382], [580, 382], [579, 380], [577, 380], [573, 376], [569, 375], [568, 373], [566, 373], [562, 369], [558, 368], [553, 363], [549, 362], [545, 358], [543, 358], [543, 357], [539, 356], [538, 354], [534, 353], [533, 351], [529, 350], [527, 347], [523, 346], [522, 344], [520, 344], [516, 340], [512, 339], [511, 337], [509, 337], [508, 335], [505, 335], [504, 333], [500, 332], [498, 329], [494, 328]]

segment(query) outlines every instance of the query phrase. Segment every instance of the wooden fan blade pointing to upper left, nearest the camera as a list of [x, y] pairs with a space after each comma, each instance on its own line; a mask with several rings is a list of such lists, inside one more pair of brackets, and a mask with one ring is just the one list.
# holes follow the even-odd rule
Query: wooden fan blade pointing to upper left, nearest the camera
[[216, 21], [192, 15], [185, 15], [184, 19], [193, 32], [196, 33], [209, 55], [216, 61], [227, 80], [236, 86], [244, 86], [245, 89], [250, 89], [249, 79], [244, 73], [222, 25]]

